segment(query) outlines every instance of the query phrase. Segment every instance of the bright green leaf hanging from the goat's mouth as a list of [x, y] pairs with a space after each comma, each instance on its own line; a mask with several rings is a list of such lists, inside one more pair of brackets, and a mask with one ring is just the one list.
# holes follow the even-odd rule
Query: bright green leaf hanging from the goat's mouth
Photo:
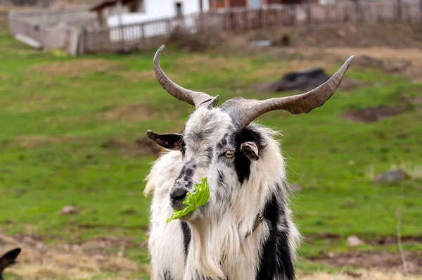
[[199, 206], [204, 205], [210, 199], [210, 188], [208, 188], [207, 177], [201, 179], [201, 183], [195, 185], [194, 193], [187, 193], [187, 198], [184, 200], [183, 204], [186, 205], [185, 208], [181, 210], [174, 210], [172, 217], [167, 219], [167, 222], [170, 222], [172, 219], [179, 219], [180, 217], [188, 215], [190, 212], [193, 212]]

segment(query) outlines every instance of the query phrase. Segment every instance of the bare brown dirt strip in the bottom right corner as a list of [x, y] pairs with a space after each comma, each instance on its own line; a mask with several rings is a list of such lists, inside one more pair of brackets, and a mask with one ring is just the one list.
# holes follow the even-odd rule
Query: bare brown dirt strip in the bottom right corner
[[[422, 252], [404, 252], [407, 269], [411, 274], [422, 274]], [[347, 252], [328, 253], [314, 260], [328, 267], [362, 267], [365, 269], [397, 269], [402, 271], [402, 257], [399, 253]]]

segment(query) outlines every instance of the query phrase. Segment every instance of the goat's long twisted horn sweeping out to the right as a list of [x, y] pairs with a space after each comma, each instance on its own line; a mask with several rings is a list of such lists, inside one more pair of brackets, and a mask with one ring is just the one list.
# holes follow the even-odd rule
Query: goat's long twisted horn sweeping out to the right
[[246, 127], [260, 115], [272, 110], [287, 110], [292, 114], [309, 113], [312, 109], [322, 106], [335, 92], [353, 61], [351, 56], [343, 66], [335, 72], [324, 84], [305, 94], [267, 100], [232, 98], [222, 104], [220, 108], [237, 122], [238, 126]]

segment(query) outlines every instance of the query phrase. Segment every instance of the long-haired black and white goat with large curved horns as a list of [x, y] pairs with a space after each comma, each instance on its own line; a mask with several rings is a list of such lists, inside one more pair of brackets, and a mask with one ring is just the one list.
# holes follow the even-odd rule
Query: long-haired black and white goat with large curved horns
[[[288, 208], [290, 186], [276, 132], [252, 121], [271, 110], [309, 113], [340, 85], [354, 56], [324, 84], [295, 96], [264, 101], [219, 96], [172, 82], [155, 53], [155, 76], [175, 98], [196, 107], [183, 134], [148, 137], [169, 151], [153, 163], [144, 195], [153, 191], [148, 251], [151, 279], [291, 280], [301, 237]], [[210, 200], [166, 223], [186, 193], [207, 177]]]

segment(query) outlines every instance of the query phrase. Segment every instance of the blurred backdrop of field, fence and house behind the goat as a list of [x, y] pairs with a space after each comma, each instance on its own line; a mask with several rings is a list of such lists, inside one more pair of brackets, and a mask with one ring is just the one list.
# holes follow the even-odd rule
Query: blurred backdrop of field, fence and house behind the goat
[[6, 279], [149, 279], [144, 178], [193, 107], [155, 79], [271, 98], [319, 86], [281, 131], [298, 279], [422, 279], [422, 1], [1, 0], [0, 255]]

